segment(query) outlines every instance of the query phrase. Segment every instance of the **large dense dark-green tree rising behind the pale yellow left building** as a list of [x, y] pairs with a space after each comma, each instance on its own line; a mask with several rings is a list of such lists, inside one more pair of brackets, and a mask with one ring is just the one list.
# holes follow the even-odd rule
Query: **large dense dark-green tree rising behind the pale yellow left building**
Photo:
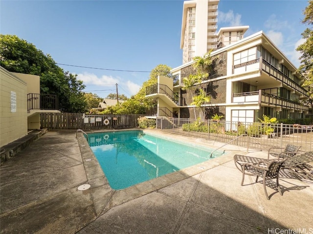
[[83, 82], [32, 43], [14, 35], [0, 35], [0, 65], [10, 72], [40, 76], [41, 94], [57, 95], [61, 111], [85, 112]]

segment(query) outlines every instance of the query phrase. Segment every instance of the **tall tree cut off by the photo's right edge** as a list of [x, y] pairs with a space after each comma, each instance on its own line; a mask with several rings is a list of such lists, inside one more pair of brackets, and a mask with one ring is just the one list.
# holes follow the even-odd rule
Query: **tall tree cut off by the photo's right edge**
[[310, 99], [307, 104], [312, 108], [313, 104], [313, 0], [308, 1], [309, 5], [304, 9], [304, 19], [302, 23], [307, 24], [309, 28], [301, 34], [306, 41], [296, 49], [301, 52], [301, 65], [298, 71], [306, 78], [302, 86], [310, 87], [308, 95]]

